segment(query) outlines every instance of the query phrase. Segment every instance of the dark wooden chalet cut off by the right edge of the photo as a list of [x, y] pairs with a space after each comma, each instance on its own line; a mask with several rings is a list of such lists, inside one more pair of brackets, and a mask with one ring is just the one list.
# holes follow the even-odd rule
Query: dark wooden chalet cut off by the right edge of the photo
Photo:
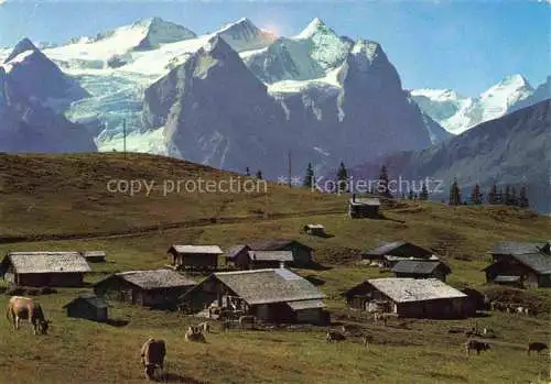
[[550, 243], [500, 242], [489, 251], [486, 282], [519, 288], [551, 287]]

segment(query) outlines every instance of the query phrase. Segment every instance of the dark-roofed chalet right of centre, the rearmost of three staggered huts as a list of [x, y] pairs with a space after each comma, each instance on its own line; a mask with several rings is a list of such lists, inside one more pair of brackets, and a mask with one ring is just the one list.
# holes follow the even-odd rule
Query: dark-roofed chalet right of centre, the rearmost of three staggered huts
[[431, 251], [406, 241], [383, 242], [378, 246], [363, 252], [361, 260], [379, 266], [393, 267], [398, 262], [406, 260], [437, 261], [439, 257]]

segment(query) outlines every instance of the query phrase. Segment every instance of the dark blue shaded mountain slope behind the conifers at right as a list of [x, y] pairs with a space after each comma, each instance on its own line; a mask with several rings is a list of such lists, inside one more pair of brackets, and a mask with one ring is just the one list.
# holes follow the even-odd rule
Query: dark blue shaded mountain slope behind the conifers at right
[[[484, 193], [494, 184], [526, 184], [532, 207], [550, 212], [551, 101], [518, 110], [482, 123], [440, 145], [379, 157], [352, 169], [355, 177], [377, 178], [386, 164], [391, 177], [443, 180], [445, 191], [434, 198], [447, 199], [454, 177], [468, 197], [478, 183]], [[404, 190], [407, 193], [407, 190]]]

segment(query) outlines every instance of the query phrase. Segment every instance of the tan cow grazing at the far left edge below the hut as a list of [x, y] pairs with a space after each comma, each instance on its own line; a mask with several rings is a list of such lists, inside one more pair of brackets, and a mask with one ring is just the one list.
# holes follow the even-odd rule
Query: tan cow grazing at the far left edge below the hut
[[6, 310], [8, 321], [13, 322], [13, 329], [18, 330], [21, 320], [29, 320], [33, 327], [33, 333], [47, 334], [47, 329], [52, 321], [46, 320], [44, 311], [40, 304], [34, 303], [32, 298], [22, 296], [12, 296]]

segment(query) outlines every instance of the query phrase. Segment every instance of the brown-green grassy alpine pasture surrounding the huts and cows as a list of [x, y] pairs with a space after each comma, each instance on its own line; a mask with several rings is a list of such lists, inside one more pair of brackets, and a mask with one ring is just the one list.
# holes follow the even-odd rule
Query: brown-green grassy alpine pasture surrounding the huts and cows
[[[346, 287], [380, 276], [377, 270], [357, 266], [353, 261], [357, 250], [379, 241], [403, 239], [429, 246], [452, 264], [452, 284], [483, 286], [479, 270], [487, 263], [484, 252], [495, 241], [551, 238], [549, 219], [500, 207], [452, 209], [406, 202], [385, 211], [389, 220], [349, 220], [344, 215], [344, 196], [280, 186], [270, 186], [267, 195], [256, 196], [153, 194], [130, 198], [106, 193], [108, 178], [162, 183], [164, 178], [196, 177], [199, 173], [204, 177], [228, 177], [153, 156], [123, 160], [114, 155], [0, 155], [0, 233], [6, 235], [119, 232], [159, 222], [242, 218], [230, 223], [159, 229], [137, 237], [1, 244], [0, 252], [105, 249], [110, 262], [95, 266], [96, 273], [88, 276], [94, 281], [114, 271], [163, 265], [164, 252], [174, 242], [217, 243], [225, 248], [255, 238], [295, 238], [312, 245], [316, 260], [331, 266], [326, 271], [299, 272], [322, 279], [329, 308], [343, 311], [339, 294]], [[339, 210], [342, 213], [337, 213]], [[300, 232], [306, 222], [324, 223], [335, 237], [306, 237]], [[0, 382], [140, 383], [143, 380], [137, 354], [149, 336], [168, 340], [170, 371], [187, 377], [184, 382], [188, 383], [526, 383], [539, 374], [549, 375], [548, 356], [528, 358], [507, 347], [467, 359], [460, 347], [463, 337], [446, 330], [451, 323], [471, 326], [474, 320], [419, 320], [409, 330], [365, 323], [375, 336], [369, 352], [352, 342], [328, 345], [323, 342], [322, 330], [229, 332], [213, 334], [207, 345], [198, 345], [183, 341], [190, 319], [175, 314], [115, 304], [111, 317], [128, 320], [128, 326], [117, 328], [66, 318], [61, 307], [82, 290], [60, 289], [58, 294], [40, 297], [54, 321], [47, 338], [33, 338], [29, 329], [15, 334], [2, 320]], [[534, 294], [550, 299], [543, 289]], [[534, 319], [494, 315], [477, 321], [494, 328], [500, 340], [509, 342], [548, 340], [550, 336], [548, 316]]]

